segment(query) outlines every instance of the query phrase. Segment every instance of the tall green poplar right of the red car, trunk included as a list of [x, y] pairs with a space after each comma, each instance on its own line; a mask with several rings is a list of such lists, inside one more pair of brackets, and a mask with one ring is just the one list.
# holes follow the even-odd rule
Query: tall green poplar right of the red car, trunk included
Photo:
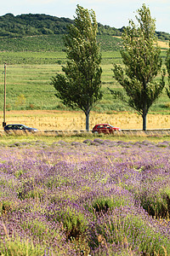
[[156, 82], [155, 78], [161, 71], [161, 49], [156, 38], [155, 19], [150, 16], [150, 9], [143, 4], [135, 16], [138, 25], [133, 20], [124, 28], [121, 51], [124, 68], [114, 65], [114, 78], [126, 92], [111, 90], [111, 93], [134, 108], [143, 118], [143, 130], [146, 130], [146, 116], [150, 106], [156, 101], [163, 90], [164, 76]]

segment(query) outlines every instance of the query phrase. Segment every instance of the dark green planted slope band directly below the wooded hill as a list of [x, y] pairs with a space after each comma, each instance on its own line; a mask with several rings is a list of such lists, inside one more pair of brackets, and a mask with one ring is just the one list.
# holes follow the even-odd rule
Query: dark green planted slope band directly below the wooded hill
[[[58, 34], [27, 36], [23, 38], [2, 37], [0, 40], [1, 55], [4, 52], [64, 52], [63, 36]], [[120, 50], [122, 47], [122, 38], [98, 35], [97, 40], [102, 51]]]

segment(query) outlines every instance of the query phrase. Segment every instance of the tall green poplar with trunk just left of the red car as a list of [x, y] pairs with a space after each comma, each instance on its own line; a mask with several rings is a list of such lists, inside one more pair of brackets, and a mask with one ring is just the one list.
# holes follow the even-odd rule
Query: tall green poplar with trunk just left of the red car
[[80, 108], [86, 115], [89, 130], [89, 113], [102, 98], [101, 54], [96, 36], [98, 23], [93, 10], [77, 5], [77, 17], [65, 35], [66, 66], [52, 78], [56, 96], [68, 107]]

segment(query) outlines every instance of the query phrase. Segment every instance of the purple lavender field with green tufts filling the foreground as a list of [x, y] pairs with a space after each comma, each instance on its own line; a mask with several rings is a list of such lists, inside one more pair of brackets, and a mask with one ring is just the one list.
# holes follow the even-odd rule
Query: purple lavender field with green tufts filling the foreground
[[170, 255], [170, 142], [0, 146], [0, 255]]

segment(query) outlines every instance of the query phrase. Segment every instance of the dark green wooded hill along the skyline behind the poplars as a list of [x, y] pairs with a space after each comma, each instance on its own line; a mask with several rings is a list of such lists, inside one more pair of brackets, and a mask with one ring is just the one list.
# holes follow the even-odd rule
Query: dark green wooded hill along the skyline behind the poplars
[[[0, 37], [19, 38], [35, 35], [65, 34], [67, 26], [74, 20], [51, 15], [16, 15], [0, 16]], [[122, 28], [98, 24], [99, 35], [121, 36]], [[169, 40], [167, 32], [156, 32], [160, 40]]]

